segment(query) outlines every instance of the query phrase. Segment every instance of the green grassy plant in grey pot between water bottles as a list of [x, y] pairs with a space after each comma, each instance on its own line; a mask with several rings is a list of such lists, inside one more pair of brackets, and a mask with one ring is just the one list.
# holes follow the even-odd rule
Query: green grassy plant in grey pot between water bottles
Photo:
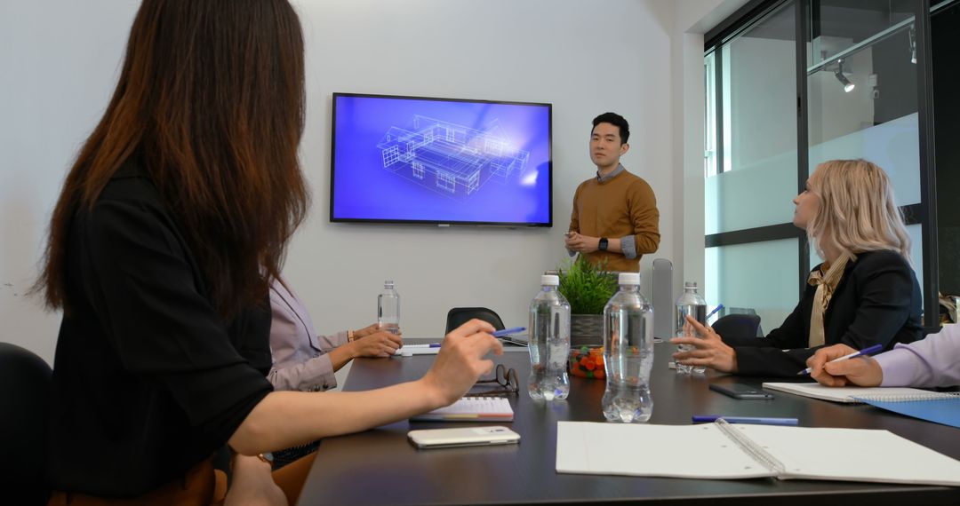
[[616, 275], [583, 256], [559, 269], [560, 287], [570, 303], [570, 345], [603, 344], [603, 308], [617, 289]]

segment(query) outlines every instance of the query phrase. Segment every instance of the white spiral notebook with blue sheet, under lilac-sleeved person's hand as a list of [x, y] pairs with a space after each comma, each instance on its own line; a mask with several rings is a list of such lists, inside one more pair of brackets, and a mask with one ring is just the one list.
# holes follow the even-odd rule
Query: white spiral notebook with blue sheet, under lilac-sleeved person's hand
[[899, 387], [831, 388], [820, 383], [763, 383], [763, 388], [835, 403], [868, 403], [901, 415], [960, 427], [960, 394], [956, 393]]

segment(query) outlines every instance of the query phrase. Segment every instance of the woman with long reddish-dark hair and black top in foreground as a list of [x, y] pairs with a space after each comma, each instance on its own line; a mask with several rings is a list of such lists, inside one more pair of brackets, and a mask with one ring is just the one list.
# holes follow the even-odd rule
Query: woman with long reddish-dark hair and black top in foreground
[[[309, 200], [303, 111], [303, 38], [286, 0], [143, 1], [36, 286], [63, 310], [52, 503], [206, 504], [225, 444], [255, 456], [380, 426], [452, 403], [491, 369], [492, 327], [471, 321], [421, 380], [272, 391], [269, 280]], [[269, 495], [256, 462], [238, 461], [234, 485]]]

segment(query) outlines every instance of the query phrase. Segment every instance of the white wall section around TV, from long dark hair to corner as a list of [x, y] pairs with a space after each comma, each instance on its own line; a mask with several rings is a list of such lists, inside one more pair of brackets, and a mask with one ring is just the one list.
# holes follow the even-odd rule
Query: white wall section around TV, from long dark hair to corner
[[[669, 10], [617, 0], [602, 10], [571, 1], [359, 0], [300, 2], [307, 33], [309, 112], [303, 168], [314, 188], [310, 221], [286, 271], [319, 326], [372, 322], [375, 296], [393, 278], [409, 336], [444, 331], [454, 306], [486, 306], [525, 325], [540, 273], [566, 258], [563, 233], [576, 185], [594, 168], [589, 121], [613, 110], [632, 129], [624, 165], [660, 196], [660, 227], [674, 228]], [[597, 16], [597, 22], [585, 22]], [[334, 91], [547, 102], [553, 108], [551, 229], [331, 224], [330, 94]], [[672, 256], [669, 242], [658, 256]], [[645, 259], [648, 269], [653, 258]]]

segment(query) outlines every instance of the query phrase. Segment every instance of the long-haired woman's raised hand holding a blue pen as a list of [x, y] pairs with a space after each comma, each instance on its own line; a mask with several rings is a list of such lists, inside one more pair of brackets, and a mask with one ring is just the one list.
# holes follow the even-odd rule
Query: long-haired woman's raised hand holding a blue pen
[[503, 345], [492, 332], [491, 324], [474, 318], [446, 334], [436, 361], [422, 379], [438, 407], [454, 403], [492, 371], [493, 361], [484, 357], [490, 352], [503, 355]]

